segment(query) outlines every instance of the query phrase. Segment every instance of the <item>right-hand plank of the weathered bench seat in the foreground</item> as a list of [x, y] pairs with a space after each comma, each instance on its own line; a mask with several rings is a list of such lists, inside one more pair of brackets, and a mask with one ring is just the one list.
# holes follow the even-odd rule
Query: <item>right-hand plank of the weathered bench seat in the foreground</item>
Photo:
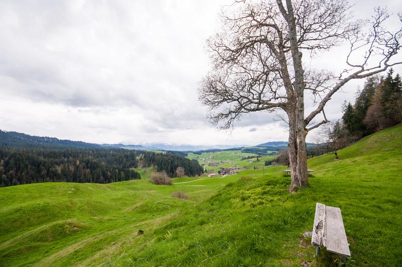
[[348, 240], [346, 239], [345, 227], [341, 215], [341, 209], [327, 206], [327, 234], [326, 247], [328, 251], [350, 256]]

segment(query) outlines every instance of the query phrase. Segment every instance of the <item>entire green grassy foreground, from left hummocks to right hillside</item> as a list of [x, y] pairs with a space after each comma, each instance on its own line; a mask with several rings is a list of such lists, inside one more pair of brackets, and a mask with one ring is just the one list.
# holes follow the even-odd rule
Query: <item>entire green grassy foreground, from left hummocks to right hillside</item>
[[[315, 203], [340, 207], [350, 265], [402, 265], [402, 127], [309, 160], [291, 195], [283, 167], [226, 177], [0, 188], [0, 265], [326, 266], [310, 237]], [[226, 186], [225, 186], [226, 185]], [[188, 200], [173, 198], [182, 190]], [[75, 226], [75, 227], [74, 227]], [[144, 234], [137, 235], [138, 230]]]

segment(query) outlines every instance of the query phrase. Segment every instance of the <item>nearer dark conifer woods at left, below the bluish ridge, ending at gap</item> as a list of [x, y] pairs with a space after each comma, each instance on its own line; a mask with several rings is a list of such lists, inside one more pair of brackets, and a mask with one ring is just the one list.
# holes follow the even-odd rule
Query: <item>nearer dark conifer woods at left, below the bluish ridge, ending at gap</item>
[[124, 149], [0, 147], [0, 186], [140, 179], [137, 152]]

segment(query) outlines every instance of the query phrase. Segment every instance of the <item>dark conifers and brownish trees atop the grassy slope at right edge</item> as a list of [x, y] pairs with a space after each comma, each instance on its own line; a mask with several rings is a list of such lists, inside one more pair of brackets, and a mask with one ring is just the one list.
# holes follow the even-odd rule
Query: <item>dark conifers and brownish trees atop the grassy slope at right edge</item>
[[324, 145], [308, 151], [309, 156], [344, 148], [364, 136], [402, 123], [402, 81], [390, 69], [385, 77], [372, 76], [356, 94], [355, 103], [345, 102], [342, 119], [325, 125], [321, 136]]

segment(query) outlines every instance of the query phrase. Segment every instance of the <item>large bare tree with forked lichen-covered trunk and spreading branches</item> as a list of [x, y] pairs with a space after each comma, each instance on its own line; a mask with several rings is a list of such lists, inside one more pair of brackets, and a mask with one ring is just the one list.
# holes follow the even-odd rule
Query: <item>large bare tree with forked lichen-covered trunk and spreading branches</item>
[[[207, 42], [212, 70], [200, 82], [199, 100], [209, 107], [210, 121], [222, 129], [233, 127], [245, 113], [283, 110], [293, 192], [308, 184], [306, 135], [329, 122], [324, 106], [350, 80], [400, 64], [390, 60], [400, 49], [401, 30], [383, 28], [388, 14], [380, 8], [371, 19], [352, 22], [346, 0], [236, 1], [221, 18], [222, 31]], [[339, 75], [303, 64], [302, 51], [313, 57], [344, 42], [350, 51]], [[355, 54], [362, 50], [357, 62]], [[317, 106], [305, 117], [309, 92]], [[320, 113], [324, 119], [313, 124]]]

